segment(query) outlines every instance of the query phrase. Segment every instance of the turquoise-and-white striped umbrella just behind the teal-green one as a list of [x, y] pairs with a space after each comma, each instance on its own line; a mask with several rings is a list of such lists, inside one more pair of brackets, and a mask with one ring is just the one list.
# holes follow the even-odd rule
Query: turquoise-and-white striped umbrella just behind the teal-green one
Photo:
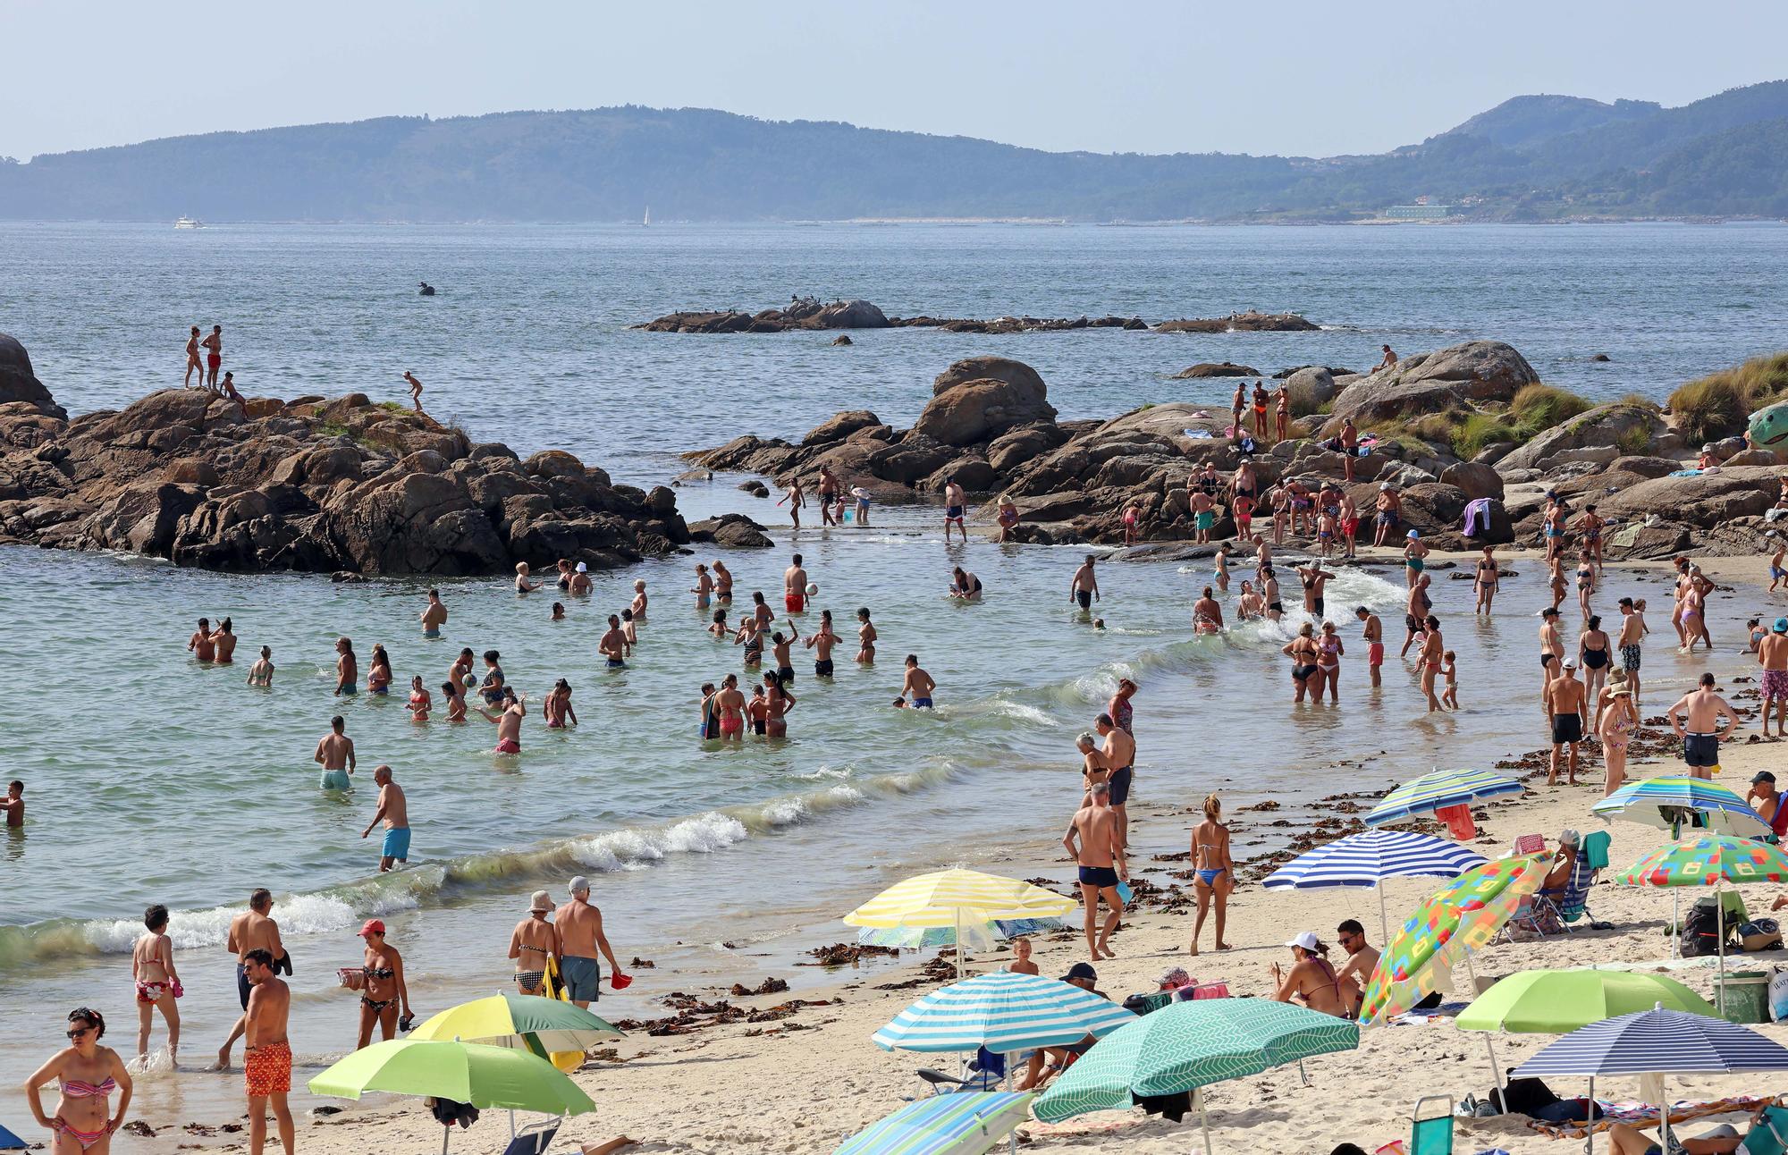
[[883, 1051], [973, 1051], [998, 1055], [1067, 1046], [1107, 1035], [1135, 1016], [1110, 999], [1057, 978], [991, 971], [939, 987], [873, 1035]]

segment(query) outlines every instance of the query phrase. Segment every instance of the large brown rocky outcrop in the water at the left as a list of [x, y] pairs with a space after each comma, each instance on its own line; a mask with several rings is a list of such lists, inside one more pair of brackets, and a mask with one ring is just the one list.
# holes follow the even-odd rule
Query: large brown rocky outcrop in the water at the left
[[[54, 402], [48, 402], [54, 408]], [[222, 570], [611, 569], [688, 540], [676, 497], [563, 451], [499, 443], [361, 393], [243, 408], [163, 390], [72, 422], [0, 406], [0, 535]], [[48, 436], [21, 442], [21, 427]]]

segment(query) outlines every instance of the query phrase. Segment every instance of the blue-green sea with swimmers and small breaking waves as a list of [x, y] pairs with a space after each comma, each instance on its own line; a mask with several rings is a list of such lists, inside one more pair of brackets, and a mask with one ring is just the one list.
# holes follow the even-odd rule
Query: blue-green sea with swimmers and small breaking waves
[[[72, 413], [181, 384], [188, 327], [220, 324], [225, 367], [247, 395], [404, 400], [409, 370], [427, 409], [476, 440], [522, 454], [567, 449], [649, 486], [683, 474], [687, 451], [744, 433], [799, 438], [839, 409], [907, 426], [932, 377], [976, 354], [1035, 367], [1064, 418], [1166, 400], [1223, 406], [1232, 384], [1173, 379], [1196, 361], [1357, 370], [1382, 343], [1411, 354], [1472, 338], [1513, 343], [1545, 381], [1595, 400], [1661, 399], [1781, 345], [1784, 274], [1788, 229], [1768, 223], [0, 223], [0, 331], [25, 343]], [[438, 295], [420, 297], [420, 281]], [[1321, 327], [889, 329], [853, 333], [849, 347], [830, 345], [830, 333], [633, 327], [672, 309], [760, 309], [792, 295], [982, 318], [1291, 309]], [[1232, 810], [1273, 797], [1307, 815], [1336, 792], [1489, 765], [1543, 740], [1536, 567], [1509, 581], [1489, 619], [1472, 613], [1468, 581], [1438, 574], [1436, 613], [1461, 670], [1461, 710], [1445, 715], [1425, 713], [1413, 665], [1395, 658], [1400, 569], [1343, 569], [1328, 586], [1328, 617], [1348, 644], [1341, 701], [1295, 704], [1280, 647], [1307, 617], [1194, 638], [1191, 601], [1212, 581], [1205, 561], [1101, 563], [1094, 626], [1067, 599], [1082, 549], [946, 544], [935, 497], [878, 504], [867, 527], [794, 531], [787, 510], [740, 481], [678, 486], [692, 520], [742, 511], [771, 527], [774, 549], [726, 556], [740, 594], [765, 590], [774, 603], [799, 551], [819, 585], [801, 633], [828, 608], [849, 638], [862, 606], [881, 644], [867, 669], [842, 647], [830, 681], [797, 660], [789, 738], [731, 747], [697, 737], [701, 683], [742, 669], [738, 649], [704, 633], [708, 613], [688, 592], [694, 563], [719, 556], [708, 547], [599, 574], [585, 599], [522, 597], [502, 578], [442, 579], [451, 619], [438, 640], [417, 622], [424, 579], [338, 585], [0, 549], [13, 696], [0, 780], [25, 780], [29, 803], [23, 831], [0, 839], [0, 1085], [18, 1085], [61, 1044], [77, 1005], [100, 1008], [105, 1041], [134, 1053], [129, 948], [143, 908], [163, 903], [175, 912], [186, 987], [181, 1066], [152, 1062], [132, 1114], [154, 1126], [240, 1116], [240, 1076], [198, 1067], [238, 1014], [224, 937], [256, 887], [277, 896], [295, 962], [300, 1078], [352, 1048], [358, 1010], [334, 971], [358, 965], [363, 919], [388, 923], [427, 1016], [506, 989], [508, 935], [527, 896], [547, 889], [563, 901], [576, 873], [595, 880], [622, 962], [656, 964], [604, 996], [610, 1017], [663, 1014], [658, 998], [692, 974], [817, 982], [794, 965], [801, 951], [851, 939], [839, 915], [881, 887], [951, 864], [1048, 862], [1078, 803], [1075, 737], [1125, 676], [1141, 683], [1135, 790], [1155, 805], [1194, 808], [1216, 790]], [[982, 578], [982, 604], [946, 599], [953, 565]], [[628, 669], [610, 672], [595, 642], [635, 579], [647, 583], [647, 622]], [[1611, 569], [1598, 606], [1650, 592], [1654, 629], [1668, 635], [1666, 588]], [[551, 620], [554, 601], [565, 620]], [[1742, 619], [1783, 601], [1756, 583], [1718, 595], [1715, 669], [1738, 670]], [[1393, 638], [1377, 692], [1350, 613], [1359, 604], [1384, 613]], [[234, 667], [188, 654], [198, 617], [232, 619]], [[331, 696], [331, 645], [343, 635], [361, 654], [388, 649], [399, 694]], [[1647, 662], [1654, 701], [1706, 663], [1663, 642]], [[261, 645], [277, 667], [272, 688], [245, 685]], [[438, 690], [461, 645], [499, 649], [536, 703], [569, 679], [579, 724], [549, 731], [531, 713], [519, 758], [493, 756], [493, 728], [476, 715], [413, 724], [401, 690], [413, 674]], [[935, 712], [890, 708], [907, 654], [937, 679]], [[361, 765], [345, 796], [322, 792], [311, 762], [334, 713]], [[377, 763], [395, 769], [415, 828], [408, 865], [384, 876], [377, 837], [359, 837]], [[1171, 849], [1184, 830], [1157, 822], [1151, 837]], [[16, 1130], [25, 1117], [0, 1121]]]

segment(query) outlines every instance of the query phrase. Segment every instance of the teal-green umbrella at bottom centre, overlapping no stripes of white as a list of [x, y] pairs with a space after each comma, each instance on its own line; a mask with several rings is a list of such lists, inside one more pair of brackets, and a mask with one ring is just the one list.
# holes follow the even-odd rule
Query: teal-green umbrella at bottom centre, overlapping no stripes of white
[[[1273, 999], [1169, 1003], [1100, 1039], [1033, 1103], [1058, 1123], [1089, 1110], [1123, 1110], [1139, 1096], [1180, 1094], [1246, 1078], [1312, 1055], [1352, 1051], [1359, 1024]], [[1198, 1117], [1210, 1150], [1203, 1094]]]

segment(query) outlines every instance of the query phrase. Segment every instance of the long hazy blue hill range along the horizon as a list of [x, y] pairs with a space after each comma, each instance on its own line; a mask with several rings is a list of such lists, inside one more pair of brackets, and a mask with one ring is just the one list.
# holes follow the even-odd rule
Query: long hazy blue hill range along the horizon
[[1516, 97], [1380, 156], [1092, 154], [610, 107], [213, 132], [0, 163], [11, 220], [1346, 222], [1783, 216], [1788, 80], [1665, 109]]

